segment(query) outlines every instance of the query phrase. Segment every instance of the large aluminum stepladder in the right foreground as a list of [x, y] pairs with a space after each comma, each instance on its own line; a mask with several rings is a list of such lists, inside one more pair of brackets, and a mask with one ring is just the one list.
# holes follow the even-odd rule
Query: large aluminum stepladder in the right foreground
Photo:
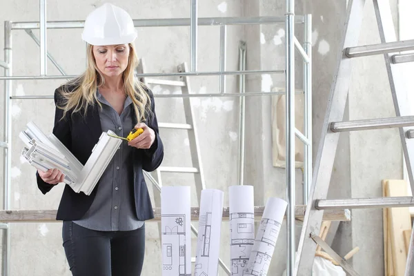
[[[324, 210], [338, 208], [386, 208], [413, 206], [413, 197], [379, 197], [367, 199], [326, 199], [333, 162], [337, 150], [340, 132], [371, 130], [378, 128], [399, 128], [402, 149], [408, 170], [408, 179], [414, 195], [414, 116], [411, 116], [406, 95], [410, 91], [404, 86], [406, 72], [402, 70], [403, 62], [414, 61], [414, 55], [400, 55], [399, 52], [414, 50], [414, 40], [396, 41], [391, 17], [391, 8], [387, 0], [373, 0], [377, 25], [380, 32], [380, 44], [356, 46], [362, 24], [365, 0], [349, 0], [346, 12], [344, 36], [339, 52], [339, 63], [331, 86], [328, 106], [322, 127], [322, 136], [317, 151], [315, 170], [311, 191], [306, 206], [306, 215], [302, 228], [293, 275], [312, 274], [315, 248], [321, 246], [326, 253], [337, 261], [348, 275], [359, 275], [342, 257], [339, 257], [322, 239], [317, 237], [322, 224]], [[351, 59], [370, 55], [384, 55], [388, 80], [391, 86], [396, 117], [384, 119], [363, 119], [342, 121], [351, 79]], [[413, 233], [406, 263], [406, 276], [414, 275]]]

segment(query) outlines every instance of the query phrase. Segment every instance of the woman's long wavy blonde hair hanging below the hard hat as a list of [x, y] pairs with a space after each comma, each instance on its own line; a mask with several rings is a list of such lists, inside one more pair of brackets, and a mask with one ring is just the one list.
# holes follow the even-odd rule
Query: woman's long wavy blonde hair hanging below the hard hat
[[[137, 121], [144, 121], [150, 114], [151, 99], [148, 95], [148, 88], [135, 77], [135, 68], [138, 66], [137, 54], [133, 43], [128, 44], [130, 54], [128, 65], [122, 73], [124, 81], [124, 90], [126, 95], [132, 100]], [[89, 106], [95, 106], [97, 103], [101, 108], [102, 105], [97, 99], [97, 88], [103, 86], [105, 79], [97, 68], [97, 63], [93, 55], [93, 46], [88, 44], [86, 51], [88, 63], [86, 71], [76, 79], [72, 79], [66, 85], [59, 88], [63, 103], [57, 105], [63, 110], [63, 117], [67, 112], [80, 112], [83, 110], [83, 116], [86, 115]], [[62, 117], [62, 118], [63, 118]]]

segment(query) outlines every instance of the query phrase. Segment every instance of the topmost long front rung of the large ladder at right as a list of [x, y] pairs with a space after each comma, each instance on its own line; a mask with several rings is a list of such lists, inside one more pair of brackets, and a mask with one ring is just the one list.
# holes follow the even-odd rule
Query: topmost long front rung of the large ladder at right
[[346, 57], [366, 57], [406, 50], [414, 50], [414, 39], [346, 48], [345, 55]]

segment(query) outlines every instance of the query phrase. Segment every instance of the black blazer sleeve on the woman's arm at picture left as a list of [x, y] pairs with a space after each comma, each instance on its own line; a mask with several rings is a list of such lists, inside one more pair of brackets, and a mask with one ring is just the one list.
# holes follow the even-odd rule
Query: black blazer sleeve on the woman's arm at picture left
[[[57, 106], [62, 103], [61, 95], [58, 90], [55, 90], [55, 125], [53, 127], [53, 134], [59, 139], [68, 150], [71, 149], [72, 146], [72, 138], [70, 134], [70, 130], [72, 129], [71, 121], [70, 121], [70, 113], [67, 112], [66, 116], [63, 116], [63, 110], [58, 108]], [[37, 187], [41, 190], [43, 195], [46, 195], [54, 186], [52, 184], [48, 184], [41, 177], [39, 176], [39, 172], [36, 171], [36, 179], [37, 179]]]

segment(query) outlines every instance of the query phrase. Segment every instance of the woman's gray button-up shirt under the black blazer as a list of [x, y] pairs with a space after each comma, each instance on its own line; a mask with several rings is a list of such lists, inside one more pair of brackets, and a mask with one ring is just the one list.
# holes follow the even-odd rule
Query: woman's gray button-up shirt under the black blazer
[[[102, 109], [99, 109], [102, 131], [112, 130], [118, 136], [128, 136], [135, 126], [130, 97], [126, 98], [124, 110], [119, 115], [101, 93], [98, 92], [97, 96], [102, 103]], [[81, 219], [73, 221], [75, 224], [99, 231], [135, 230], [144, 225], [144, 221], [139, 221], [135, 213], [131, 162], [132, 147], [122, 141], [99, 180], [92, 205]]]

